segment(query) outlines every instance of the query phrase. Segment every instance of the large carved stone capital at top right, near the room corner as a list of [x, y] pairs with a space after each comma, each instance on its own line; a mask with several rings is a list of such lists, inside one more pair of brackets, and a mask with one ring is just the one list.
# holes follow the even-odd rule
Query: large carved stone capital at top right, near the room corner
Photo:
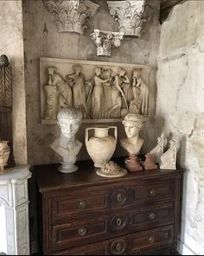
[[107, 1], [110, 14], [119, 22], [119, 31], [124, 35], [141, 37], [143, 28], [153, 10], [146, 0]]

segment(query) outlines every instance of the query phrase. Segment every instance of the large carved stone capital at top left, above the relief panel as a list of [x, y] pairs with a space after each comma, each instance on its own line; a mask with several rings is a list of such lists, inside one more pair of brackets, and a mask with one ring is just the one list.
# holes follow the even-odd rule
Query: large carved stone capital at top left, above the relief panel
[[55, 19], [59, 32], [76, 32], [83, 35], [86, 20], [91, 19], [99, 4], [89, 0], [42, 0]]

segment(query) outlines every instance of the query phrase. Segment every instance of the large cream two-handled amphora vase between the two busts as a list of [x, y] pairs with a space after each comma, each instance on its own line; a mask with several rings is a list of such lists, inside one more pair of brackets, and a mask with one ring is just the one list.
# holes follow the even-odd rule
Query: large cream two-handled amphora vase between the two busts
[[[108, 134], [114, 129], [114, 137]], [[94, 130], [93, 137], [89, 138], [89, 131]], [[86, 150], [92, 158], [95, 167], [103, 167], [112, 158], [117, 144], [117, 126], [94, 126], [86, 128]]]

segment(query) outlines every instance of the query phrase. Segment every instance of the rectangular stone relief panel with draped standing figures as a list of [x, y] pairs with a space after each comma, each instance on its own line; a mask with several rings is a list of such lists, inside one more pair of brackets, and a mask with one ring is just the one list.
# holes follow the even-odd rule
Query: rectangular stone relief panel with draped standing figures
[[121, 121], [129, 112], [149, 114], [150, 66], [40, 58], [41, 123], [55, 124], [74, 106], [83, 123]]

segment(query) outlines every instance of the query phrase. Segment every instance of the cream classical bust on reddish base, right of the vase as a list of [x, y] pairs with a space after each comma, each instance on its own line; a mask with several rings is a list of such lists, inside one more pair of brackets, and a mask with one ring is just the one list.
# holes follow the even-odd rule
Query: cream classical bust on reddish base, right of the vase
[[130, 155], [137, 156], [143, 146], [143, 138], [139, 138], [143, 122], [143, 116], [136, 113], [128, 113], [122, 122], [127, 138], [121, 138], [120, 144]]

